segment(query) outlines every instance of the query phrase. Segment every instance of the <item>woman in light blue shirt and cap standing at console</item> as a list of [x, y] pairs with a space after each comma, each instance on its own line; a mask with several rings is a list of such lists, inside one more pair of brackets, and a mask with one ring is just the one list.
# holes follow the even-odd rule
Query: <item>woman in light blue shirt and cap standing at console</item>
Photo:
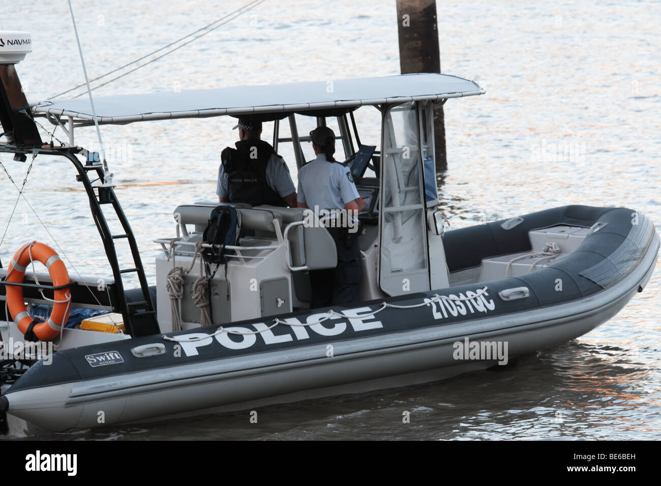
[[[334, 132], [319, 126], [310, 132], [310, 139], [317, 158], [299, 169], [298, 207], [315, 209], [317, 214], [323, 209], [348, 210], [349, 215], [358, 216], [365, 203], [356, 190], [350, 169], [333, 158]], [[327, 224], [326, 228], [335, 242], [337, 266], [310, 272], [311, 309], [350, 304], [358, 300], [362, 273], [360, 246], [355, 233], [358, 225], [338, 225], [338, 222], [336, 227]]]

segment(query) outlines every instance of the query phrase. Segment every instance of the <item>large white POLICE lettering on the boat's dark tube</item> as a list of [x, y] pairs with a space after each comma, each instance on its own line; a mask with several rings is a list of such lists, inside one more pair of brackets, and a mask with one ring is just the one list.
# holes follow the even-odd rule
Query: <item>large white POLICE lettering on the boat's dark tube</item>
[[[241, 335], [230, 337], [228, 333], [221, 332], [215, 335], [215, 343], [219, 343], [227, 349], [245, 349], [253, 346], [258, 339], [260, 343], [270, 345], [289, 343], [290, 341], [302, 341], [309, 339], [311, 334], [330, 337], [341, 335], [350, 329], [354, 332], [360, 332], [382, 328], [383, 324], [381, 324], [381, 321], [376, 321], [371, 312], [372, 309], [370, 307], [345, 309], [342, 313], [348, 319], [343, 319], [339, 315], [332, 315], [330, 319], [326, 319], [321, 323], [319, 321], [327, 317], [327, 313], [311, 314], [304, 319], [303, 317], [288, 317], [284, 321], [291, 325], [279, 324], [276, 327], [271, 327], [271, 329], [269, 329], [271, 326], [270, 323], [260, 322], [251, 324], [254, 330], [258, 331], [256, 334], [251, 334], [254, 331], [248, 327], [227, 327], [225, 331], [237, 331]], [[347, 324], [350, 324], [350, 326]], [[184, 334], [179, 335], [178, 338], [197, 340], [180, 341], [178, 343], [186, 356], [198, 356], [200, 354], [200, 348], [214, 344], [214, 339], [205, 333]], [[213, 348], [209, 348], [209, 350], [212, 351]]]

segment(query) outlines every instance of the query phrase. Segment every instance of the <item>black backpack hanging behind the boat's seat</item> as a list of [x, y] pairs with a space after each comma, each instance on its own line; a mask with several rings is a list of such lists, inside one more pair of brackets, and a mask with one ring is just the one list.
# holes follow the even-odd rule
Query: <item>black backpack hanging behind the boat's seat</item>
[[233, 255], [234, 250], [225, 250], [227, 246], [239, 244], [241, 230], [241, 214], [232, 206], [217, 206], [211, 212], [209, 223], [202, 233], [202, 241], [214, 248], [205, 248], [202, 257], [207, 263], [225, 264], [226, 255]]

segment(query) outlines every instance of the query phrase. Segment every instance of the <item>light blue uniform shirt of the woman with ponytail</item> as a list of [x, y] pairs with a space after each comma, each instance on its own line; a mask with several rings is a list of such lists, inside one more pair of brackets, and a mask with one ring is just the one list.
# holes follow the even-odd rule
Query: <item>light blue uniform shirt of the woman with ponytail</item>
[[360, 198], [351, 171], [346, 165], [329, 162], [326, 154], [301, 167], [298, 171], [296, 200], [314, 209], [344, 209], [344, 204]]

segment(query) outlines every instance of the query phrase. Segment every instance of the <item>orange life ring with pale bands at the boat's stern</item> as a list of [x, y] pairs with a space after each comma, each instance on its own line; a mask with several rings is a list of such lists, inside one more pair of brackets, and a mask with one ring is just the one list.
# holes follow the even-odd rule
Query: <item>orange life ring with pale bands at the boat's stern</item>
[[[54, 249], [44, 243], [27, 243], [20, 247], [11, 259], [9, 268], [7, 268], [7, 282], [22, 283], [25, 270], [32, 261], [39, 261], [48, 268], [48, 273], [53, 280], [53, 286], [59, 287], [71, 282], [69, 272], [64, 262], [59, 259]], [[21, 333], [25, 334], [32, 324], [32, 316], [28, 314], [23, 300], [23, 288], [19, 286], [8, 285], [7, 287], [7, 307], [11, 312], [14, 322], [19, 327]], [[41, 341], [50, 341], [59, 334], [61, 327], [69, 319], [71, 310], [70, 294], [68, 288], [54, 290], [53, 311], [46, 321], [37, 323], [32, 328], [34, 335]]]

